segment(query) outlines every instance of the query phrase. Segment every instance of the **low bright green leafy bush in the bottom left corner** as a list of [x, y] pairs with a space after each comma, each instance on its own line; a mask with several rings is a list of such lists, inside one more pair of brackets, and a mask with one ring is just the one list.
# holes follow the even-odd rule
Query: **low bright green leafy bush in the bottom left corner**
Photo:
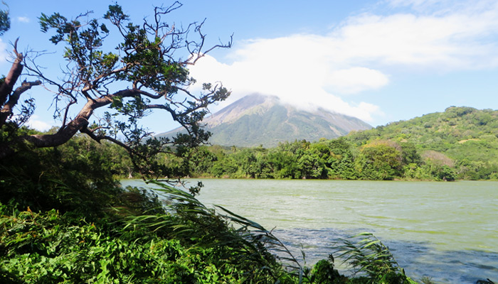
[[234, 283], [243, 279], [235, 265], [216, 261], [216, 247], [186, 247], [179, 239], [161, 238], [147, 230], [112, 237], [99, 224], [77, 222], [55, 210], [18, 212], [0, 222], [1, 283]]

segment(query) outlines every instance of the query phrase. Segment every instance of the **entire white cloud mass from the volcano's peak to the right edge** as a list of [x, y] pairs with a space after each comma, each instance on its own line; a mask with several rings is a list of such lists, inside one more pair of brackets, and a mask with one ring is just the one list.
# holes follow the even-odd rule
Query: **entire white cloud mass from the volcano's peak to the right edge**
[[244, 40], [224, 62], [209, 56], [199, 60], [191, 75], [231, 88], [226, 104], [258, 92], [301, 108], [324, 107], [372, 121], [383, 115], [381, 109], [356, 102], [355, 94], [387, 86], [391, 72], [498, 66], [498, 3], [472, 2], [450, 10], [452, 2], [391, 0], [388, 5], [408, 10], [361, 13], [324, 35]]

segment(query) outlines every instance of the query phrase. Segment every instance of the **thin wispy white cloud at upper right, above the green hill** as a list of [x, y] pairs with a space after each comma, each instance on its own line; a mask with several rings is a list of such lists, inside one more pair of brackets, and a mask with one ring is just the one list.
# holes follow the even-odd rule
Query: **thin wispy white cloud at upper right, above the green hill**
[[444, 16], [364, 13], [349, 18], [329, 38], [338, 61], [448, 71], [496, 67], [497, 31], [498, 4]]

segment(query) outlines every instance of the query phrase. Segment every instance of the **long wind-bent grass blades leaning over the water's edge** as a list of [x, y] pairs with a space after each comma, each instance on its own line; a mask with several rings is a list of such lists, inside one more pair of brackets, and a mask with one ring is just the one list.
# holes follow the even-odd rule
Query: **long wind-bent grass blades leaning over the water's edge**
[[[151, 183], [157, 186], [154, 191], [164, 198], [166, 214], [131, 217], [124, 229], [147, 226], [156, 234], [179, 239], [184, 244], [216, 248], [216, 257], [252, 271], [248, 275], [251, 282], [277, 283], [295, 275], [301, 283], [307, 278], [299, 261], [272, 231], [224, 207], [208, 208], [179, 188]], [[282, 269], [282, 263], [286, 269]]]

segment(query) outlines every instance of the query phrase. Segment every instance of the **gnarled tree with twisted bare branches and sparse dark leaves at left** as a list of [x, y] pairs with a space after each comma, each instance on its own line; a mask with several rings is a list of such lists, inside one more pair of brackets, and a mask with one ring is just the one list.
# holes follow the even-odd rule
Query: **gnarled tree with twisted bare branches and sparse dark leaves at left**
[[[42, 13], [41, 30], [52, 33], [52, 43], [65, 46], [66, 64], [57, 76], [62, 79], [36, 64], [40, 53], [19, 53], [16, 40], [14, 62], [0, 87], [0, 158], [21, 148], [59, 146], [80, 131], [98, 142], [117, 143], [131, 154], [141, 173], [159, 175], [159, 163], [154, 162], [157, 153], [182, 156], [188, 148], [205, 143], [210, 133], [203, 131], [200, 121], [208, 113], [206, 107], [226, 99], [230, 92], [221, 84], [206, 83], [200, 94], [192, 93], [189, 86], [196, 81], [189, 77], [188, 67], [214, 48], [229, 48], [231, 39], [206, 49], [203, 22], [186, 28], [165, 23], [164, 18], [180, 7], [179, 2], [156, 7], [152, 19], [140, 25], [132, 23], [117, 4], [109, 6], [100, 19], [90, 18], [90, 12], [72, 20], [59, 13]], [[111, 34], [120, 43], [107, 43]], [[21, 74], [26, 79], [14, 89]], [[30, 99], [19, 103], [21, 94], [38, 86], [53, 92], [54, 117], [60, 119], [60, 126], [55, 133], [21, 135], [17, 130], [35, 107]], [[21, 109], [18, 114], [16, 106]], [[90, 123], [95, 111], [104, 107], [109, 109]], [[144, 139], [150, 133], [139, 119], [152, 110], [166, 111], [188, 134]]]

